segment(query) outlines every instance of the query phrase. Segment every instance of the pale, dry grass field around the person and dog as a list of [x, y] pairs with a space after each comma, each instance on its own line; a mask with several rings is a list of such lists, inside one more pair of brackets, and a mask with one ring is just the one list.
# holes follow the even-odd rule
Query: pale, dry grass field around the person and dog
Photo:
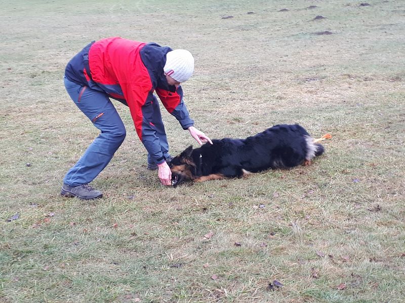
[[[404, 301], [402, 0], [1, 3], [0, 302]], [[299, 123], [333, 135], [326, 154], [166, 188], [114, 103], [128, 135], [92, 182], [104, 197], [60, 196], [98, 134], [64, 67], [108, 36], [189, 49], [185, 102], [211, 138]], [[164, 120], [173, 155], [196, 146]]]

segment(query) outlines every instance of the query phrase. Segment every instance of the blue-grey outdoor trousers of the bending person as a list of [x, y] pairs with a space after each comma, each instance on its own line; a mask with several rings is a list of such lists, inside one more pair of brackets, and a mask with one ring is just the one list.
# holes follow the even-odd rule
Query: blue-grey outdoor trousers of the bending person
[[[70, 186], [88, 184], [111, 161], [118, 147], [123, 143], [126, 129], [108, 95], [102, 91], [91, 89], [74, 83], [64, 77], [65, 88], [74, 104], [93, 122], [101, 133], [85, 151], [85, 154], [67, 172], [63, 183]], [[160, 117], [159, 105], [153, 102], [157, 109], [154, 114]], [[163, 123], [158, 125], [156, 135], [160, 141], [160, 148], [165, 157], [169, 156], [169, 144], [167, 142]]]

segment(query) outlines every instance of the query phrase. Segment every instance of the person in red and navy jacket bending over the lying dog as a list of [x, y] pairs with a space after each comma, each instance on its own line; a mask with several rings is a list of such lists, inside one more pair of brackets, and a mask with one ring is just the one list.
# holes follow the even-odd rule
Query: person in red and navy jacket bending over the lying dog
[[182, 82], [194, 71], [185, 49], [171, 49], [121, 37], [93, 41], [67, 64], [66, 90], [101, 133], [67, 172], [61, 194], [81, 199], [102, 197], [89, 183], [110, 162], [124, 141], [126, 129], [110, 98], [129, 107], [139, 139], [148, 151], [148, 169], [158, 170], [161, 184], [171, 185], [171, 160], [156, 92], [167, 111], [198, 142], [211, 139], [194, 127], [183, 102]]

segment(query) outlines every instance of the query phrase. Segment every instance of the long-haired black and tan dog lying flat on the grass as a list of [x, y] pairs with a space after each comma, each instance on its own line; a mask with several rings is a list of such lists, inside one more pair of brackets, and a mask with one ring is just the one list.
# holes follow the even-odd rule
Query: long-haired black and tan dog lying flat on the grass
[[170, 163], [174, 187], [186, 180], [241, 178], [267, 169], [310, 164], [325, 149], [300, 125], [275, 125], [246, 139], [213, 140], [186, 148]]

